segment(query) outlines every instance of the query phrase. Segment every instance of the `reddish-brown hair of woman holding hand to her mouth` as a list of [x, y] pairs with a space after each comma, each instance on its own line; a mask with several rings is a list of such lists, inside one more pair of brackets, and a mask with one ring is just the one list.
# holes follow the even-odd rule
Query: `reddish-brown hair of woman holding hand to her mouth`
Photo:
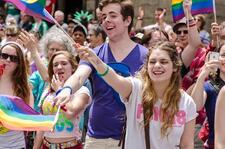
[[[72, 66], [73, 72], [75, 72], [75, 70], [78, 67], [78, 62], [76, 61], [76, 58], [71, 53], [69, 53], [68, 51], [58, 51], [58, 52], [55, 52], [53, 54], [53, 56], [51, 57], [51, 59], [49, 61], [49, 65], [48, 65], [48, 75], [49, 75], [49, 80], [50, 80], [50, 86], [51, 86], [51, 80], [52, 80], [53, 75], [54, 75], [54, 71], [53, 71], [53, 60], [58, 55], [64, 55], [65, 57], [67, 57], [67, 60], [69, 61], [69, 63]], [[54, 90], [51, 87], [50, 87], [50, 92], [54, 92]]]

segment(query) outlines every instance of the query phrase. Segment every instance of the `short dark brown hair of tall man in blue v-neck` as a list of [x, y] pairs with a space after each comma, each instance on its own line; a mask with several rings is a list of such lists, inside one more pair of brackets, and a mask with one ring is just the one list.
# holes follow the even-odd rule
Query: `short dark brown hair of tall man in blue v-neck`
[[131, 23], [128, 26], [128, 32], [131, 31], [134, 19], [134, 7], [131, 0], [101, 0], [98, 7], [102, 9], [108, 4], [119, 4], [121, 6], [121, 15], [123, 20], [126, 20], [129, 16], [131, 17]]

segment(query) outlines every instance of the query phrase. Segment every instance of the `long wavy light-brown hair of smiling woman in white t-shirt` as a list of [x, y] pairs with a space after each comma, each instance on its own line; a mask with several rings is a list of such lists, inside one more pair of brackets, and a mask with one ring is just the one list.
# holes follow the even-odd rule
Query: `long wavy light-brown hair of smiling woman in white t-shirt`
[[168, 136], [169, 128], [172, 127], [174, 118], [176, 113], [179, 110], [179, 102], [181, 98], [180, 92], [180, 69], [181, 69], [181, 61], [176, 52], [176, 47], [171, 42], [160, 42], [157, 43], [154, 47], [149, 49], [149, 55], [147, 56], [146, 62], [144, 63], [142, 69], [137, 74], [137, 77], [142, 81], [143, 89], [142, 89], [142, 104], [145, 110], [144, 120], [145, 125], [151, 120], [153, 116], [153, 107], [157, 102], [158, 97], [156, 95], [156, 91], [153, 87], [153, 82], [149, 77], [148, 73], [148, 64], [149, 57], [152, 51], [160, 49], [162, 51], [166, 51], [173, 63], [173, 69], [176, 71], [172, 73], [170, 78], [169, 86], [166, 88], [163, 94], [163, 101], [161, 104], [161, 118], [162, 118], [162, 127], [161, 127], [161, 136]]

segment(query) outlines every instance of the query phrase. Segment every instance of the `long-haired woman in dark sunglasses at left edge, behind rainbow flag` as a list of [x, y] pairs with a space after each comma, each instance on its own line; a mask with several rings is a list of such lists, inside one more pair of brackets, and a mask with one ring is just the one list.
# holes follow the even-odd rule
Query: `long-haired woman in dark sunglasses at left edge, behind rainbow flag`
[[[21, 46], [7, 42], [0, 48], [0, 65], [4, 65], [0, 76], [0, 94], [18, 96], [33, 106], [33, 97], [28, 83], [27, 65]], [[6, 107], [10, 108], [10, 107]], [[1, 127], [0, 148], [25, 148], [23, 131], [11, 131]]]

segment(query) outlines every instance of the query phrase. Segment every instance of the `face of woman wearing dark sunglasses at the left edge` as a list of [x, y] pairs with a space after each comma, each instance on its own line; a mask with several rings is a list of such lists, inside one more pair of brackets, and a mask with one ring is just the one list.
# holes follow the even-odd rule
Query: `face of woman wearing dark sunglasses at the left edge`
[[16, 49], [10, 45], [5, 46], [0, 52], [0, 64], [5, 65], [4, 73], [12, 74], [17, 67], [19, 58]]

